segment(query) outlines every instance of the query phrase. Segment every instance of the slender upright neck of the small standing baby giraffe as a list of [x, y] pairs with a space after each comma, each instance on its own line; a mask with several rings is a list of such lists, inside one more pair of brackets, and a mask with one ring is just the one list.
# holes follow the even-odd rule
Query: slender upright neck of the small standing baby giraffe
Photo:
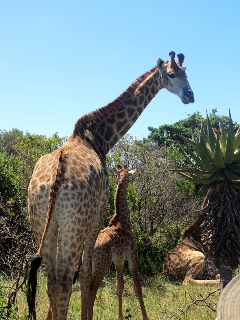
[[[124, 177], [125, 178], [125, 177]], [[127, 183], [128, 179], [120, 180], [115, 194], [115, 214], [109, 222], [109, 226], [121, 222], [122, 227], [131, 229], [130, 214], [127, 204]]]

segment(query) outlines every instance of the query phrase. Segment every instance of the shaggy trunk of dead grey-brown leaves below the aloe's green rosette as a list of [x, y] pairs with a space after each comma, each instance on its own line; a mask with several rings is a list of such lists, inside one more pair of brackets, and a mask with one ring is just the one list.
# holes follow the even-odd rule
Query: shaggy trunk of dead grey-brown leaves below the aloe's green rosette
[[240, 256], [240, 198], [238, 190], [228, 180], [215, 182], [204, 209], [203, 242], [207, 245], [216, 267], [220, 270], [220, 285], [224, 288], [232, 279], [232, 272]]

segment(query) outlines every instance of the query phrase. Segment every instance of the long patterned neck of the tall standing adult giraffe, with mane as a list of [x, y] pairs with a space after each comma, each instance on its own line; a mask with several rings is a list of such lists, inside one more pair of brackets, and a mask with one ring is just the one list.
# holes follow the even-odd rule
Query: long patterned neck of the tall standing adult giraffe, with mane
[[100, 144], [107, 154], [162, 89], [161, 74], [156, 67], [145, 72], [107, 106], [79, 118], [73, 135], [91, 136], [89, 143]]

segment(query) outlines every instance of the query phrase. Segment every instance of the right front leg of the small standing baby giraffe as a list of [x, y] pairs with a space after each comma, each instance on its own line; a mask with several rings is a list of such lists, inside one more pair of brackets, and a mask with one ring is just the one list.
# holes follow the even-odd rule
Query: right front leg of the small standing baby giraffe
[[149, 320], [148, 315], [146, 312], [146, 308], [144, 305], [143, 297], [142, 297], [142, 287], [138, 277], [138, 270], [139, 270], [139, 256], [137, 252], [133, 252], [133, 255], [128, 257], [128, 264], [132, 275], [132, 280], [134, 284], [134, 291], [138, 297], [140, 308], [142, 311], [142, 318], [143, 320]]

